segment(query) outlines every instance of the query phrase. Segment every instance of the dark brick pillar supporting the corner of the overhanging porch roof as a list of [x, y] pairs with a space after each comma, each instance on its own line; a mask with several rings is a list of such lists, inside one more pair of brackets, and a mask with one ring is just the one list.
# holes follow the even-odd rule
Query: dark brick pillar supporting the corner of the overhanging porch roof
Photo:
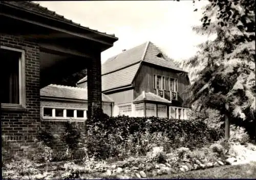
[[94, 58], [87, 68], [87, 82], [88, 82], [88, 113], [87, 118], [92, 117], [93, 107], [101, 108], [101, 61], [100, 52], [95, 53]]

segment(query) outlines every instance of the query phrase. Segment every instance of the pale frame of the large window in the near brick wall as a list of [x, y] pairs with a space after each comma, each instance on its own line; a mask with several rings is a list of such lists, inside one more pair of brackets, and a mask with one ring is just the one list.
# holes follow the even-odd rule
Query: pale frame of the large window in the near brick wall
[[12, 50], [14, 52], [22, 53], [21, 57], [18, 61], [18, 69], [19, 69], [19, 104], [6, 104], [1, 103], [2, 108], [26, 108], [26, 77], [25, 77], [25, 50], [17, 49], [13, 47], [3, 46], [1, 45], [1, 49]]

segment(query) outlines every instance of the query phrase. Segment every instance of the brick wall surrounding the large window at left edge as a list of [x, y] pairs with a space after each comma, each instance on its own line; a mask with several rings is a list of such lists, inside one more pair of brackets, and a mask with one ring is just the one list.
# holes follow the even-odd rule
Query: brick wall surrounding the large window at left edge
[[26, 74], [26, 110], [13, 112], [2, 110], [2, 137], [6, 150], [11, 155], [22, 153], [23, 145], [33, 143], [33, 138], [40, 124], [39, 101], [39, 47], [32, 42], [17, 36], [1, 34], [1, 45], [25, 50]]

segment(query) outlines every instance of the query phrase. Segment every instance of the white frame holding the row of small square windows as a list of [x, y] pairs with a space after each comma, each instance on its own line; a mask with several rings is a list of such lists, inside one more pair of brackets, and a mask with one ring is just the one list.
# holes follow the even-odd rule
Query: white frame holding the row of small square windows
[[[44, 108], [50, 108], [52, 109], [52, 116], [44, 116]], [[59, 117], [55, 115], [55, 109], [62, 109], [63, 110], [63, 116]], [[74, 111], [74, 117], [67, 117], [67, 110], [73, 110]], [[77, 117], [77, 110], [83, 111], [83, 117]], [[55, 106], [42, 106], [42, 118], [43, 119], [62, 119], [62, 120], [86, 120], [87, 119], [87, 109], [84, 108], [65, 108], [65, 107], [55, 107]]]

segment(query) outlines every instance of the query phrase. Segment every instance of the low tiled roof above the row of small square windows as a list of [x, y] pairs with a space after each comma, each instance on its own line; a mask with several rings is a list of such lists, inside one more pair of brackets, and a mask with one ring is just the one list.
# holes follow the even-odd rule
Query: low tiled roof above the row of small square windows
[[[77, 88], [53, 84], [41, 88], [40, 96], [88, 100], [88, 92], [86, 88]], [[114, 100], [102, 93], [102, 102], [114, 102]]]

